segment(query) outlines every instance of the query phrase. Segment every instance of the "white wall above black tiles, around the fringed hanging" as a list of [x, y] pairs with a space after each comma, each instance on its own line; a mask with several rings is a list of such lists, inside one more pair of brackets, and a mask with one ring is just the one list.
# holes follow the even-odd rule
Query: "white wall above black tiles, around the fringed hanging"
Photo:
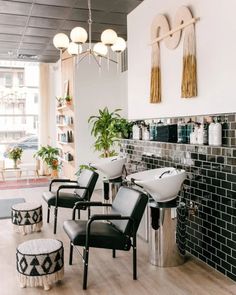
[[[149, 103], [151, 23], [157, 14], [173, 20], [182, 6], [196, 24], [198, 96], [180, 97], [182, 41], [176, 50], [161, 44], [162, 103]], [[236, 111], [235, 0], [144, 0], [128, 16], [128, 117], [130, 119]]]

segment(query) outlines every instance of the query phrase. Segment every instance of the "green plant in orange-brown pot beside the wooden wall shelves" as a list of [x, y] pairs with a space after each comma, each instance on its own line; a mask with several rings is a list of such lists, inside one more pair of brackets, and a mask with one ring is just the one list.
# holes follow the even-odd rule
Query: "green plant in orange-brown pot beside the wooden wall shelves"
[[51, 169], [51, 177], [58, 177], [58, 171], [61, 169], [61, 162], [59, 161], [60, 151], [58, 148], [50, 145], [41, 146], [41, 148], [34, 154], [35, 157], [44, 161]]

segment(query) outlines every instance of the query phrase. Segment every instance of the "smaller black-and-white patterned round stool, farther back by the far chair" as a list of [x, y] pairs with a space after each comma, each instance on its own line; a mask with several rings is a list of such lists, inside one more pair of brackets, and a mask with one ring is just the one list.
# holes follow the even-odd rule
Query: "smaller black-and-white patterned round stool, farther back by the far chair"
[[43, 210], [39, 203], [19, 203], [11, 207], [11, 220], [16, 231], [24, 235], [40, 231], [43, 225]]

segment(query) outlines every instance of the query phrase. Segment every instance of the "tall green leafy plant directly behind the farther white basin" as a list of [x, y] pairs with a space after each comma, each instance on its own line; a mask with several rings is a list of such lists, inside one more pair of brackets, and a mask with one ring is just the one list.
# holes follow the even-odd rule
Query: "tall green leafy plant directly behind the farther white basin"
[[109, 112], [105, 107], [103, 110], [99, 110], [98, 116], [91, 116], [88, 119], [88, 122], [92, 124], [91, 134], [96, 138], [95, 150], [102, 151], [101, 157], [107, 158], [117, 154], [114, 145], [119, 140], [116, 125], [120, 120], [120, 111], [121, 109], [115, 109], [113, 112]]

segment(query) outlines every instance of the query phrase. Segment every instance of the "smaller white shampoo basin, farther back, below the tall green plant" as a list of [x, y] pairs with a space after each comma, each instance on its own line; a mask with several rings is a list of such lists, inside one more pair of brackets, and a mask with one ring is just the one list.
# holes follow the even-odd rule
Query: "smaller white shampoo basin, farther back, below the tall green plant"
[[125, 162], [125, 157], [109, 157], [99, 159], [97, 162], [90, 164], [90, 166], [105, 174], [108, 179], [115, 179], [122, 175]]

